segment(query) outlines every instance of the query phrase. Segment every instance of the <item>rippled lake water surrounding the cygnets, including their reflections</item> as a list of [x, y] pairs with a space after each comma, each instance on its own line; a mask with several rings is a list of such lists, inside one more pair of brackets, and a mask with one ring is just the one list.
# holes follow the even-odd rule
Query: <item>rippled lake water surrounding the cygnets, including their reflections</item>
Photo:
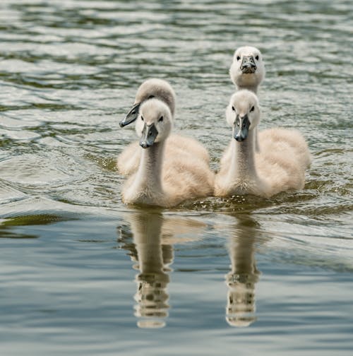
[[[1, 355], [351, 355], [351, 1], [0, 4]], [[121, 203], [138, 85], [217, 169], [234, 49], [263, 52], [262, 128], [297, 127], [302, 191]]]

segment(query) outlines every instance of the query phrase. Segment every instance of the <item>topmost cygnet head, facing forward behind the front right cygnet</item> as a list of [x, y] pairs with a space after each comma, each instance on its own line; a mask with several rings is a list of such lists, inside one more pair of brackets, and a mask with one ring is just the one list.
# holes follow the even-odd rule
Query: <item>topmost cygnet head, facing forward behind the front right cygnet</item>
[[262, 54], [256, 47], [239, 47], [234, 52], [232, 66], [229, 69], [232, 81], [239, 89], [256, 92], [265, 78], [265, 66]]

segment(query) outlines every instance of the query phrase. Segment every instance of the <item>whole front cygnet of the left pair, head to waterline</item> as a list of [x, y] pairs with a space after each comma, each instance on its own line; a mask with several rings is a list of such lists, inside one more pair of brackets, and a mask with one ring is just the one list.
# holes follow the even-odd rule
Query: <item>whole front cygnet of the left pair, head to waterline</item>
[[124, 203], [169, 207], [213, 194], [214, 174], [204, 160], [165, 149], [171, 130], [169, 107], [157, 99], [143, 102], [136, 120], [140, 163], [124, 186]]

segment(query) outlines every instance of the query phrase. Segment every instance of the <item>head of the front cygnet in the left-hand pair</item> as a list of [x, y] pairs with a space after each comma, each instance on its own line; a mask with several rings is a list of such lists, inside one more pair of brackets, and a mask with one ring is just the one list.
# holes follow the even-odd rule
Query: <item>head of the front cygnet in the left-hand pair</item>
[[136, 120], [136, 133], [140, 146], [148, 148], [154, 143], [164, 141], [172, 131], [172, 113], [161, 100], [150, 99], [140, 106]]

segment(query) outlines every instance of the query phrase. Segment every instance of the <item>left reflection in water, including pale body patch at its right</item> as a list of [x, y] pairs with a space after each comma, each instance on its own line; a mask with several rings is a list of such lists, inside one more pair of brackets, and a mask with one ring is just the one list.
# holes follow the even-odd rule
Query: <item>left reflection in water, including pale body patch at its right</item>
[[[195, 239], [198, 229], [205, 224], [191, 219], [164, 218], [155, 210], [140, 210], [128, 215], [126, 220], [131, 225], [133, 244], [128, 243], [131, 235], [124, 227], [119, 240], [124, 249], [130, 251], [131, 259], [137, 262], [134, 268], [140, 271], [135, 279], [138, 326], [162, 328], [169, 309], [167, 286], [171, 271], [169, 265], [174, 256], [172, 244]], [[176, 232], [178, 235], [186, 234], [186, 238], [176, 238]]]

